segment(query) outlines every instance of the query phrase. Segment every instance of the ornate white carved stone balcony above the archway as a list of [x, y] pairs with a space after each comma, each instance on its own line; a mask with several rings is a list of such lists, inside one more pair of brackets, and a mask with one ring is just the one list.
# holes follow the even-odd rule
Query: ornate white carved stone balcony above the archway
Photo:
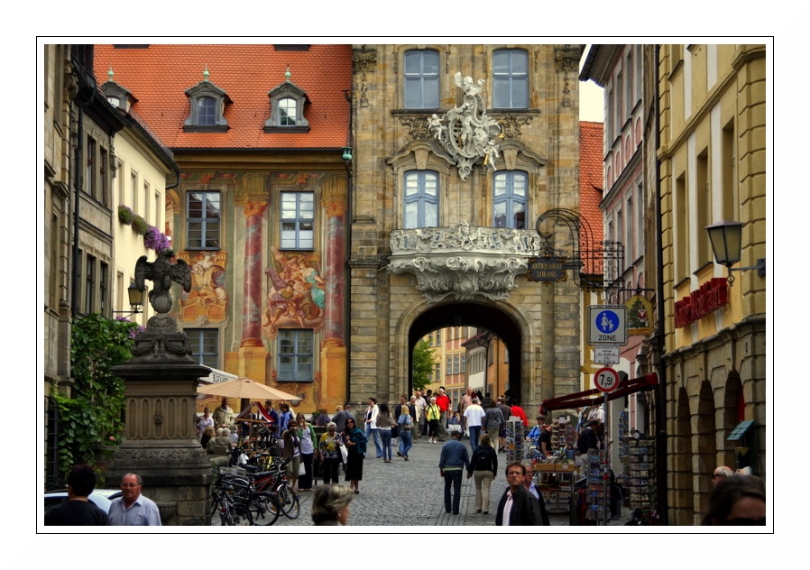
[[391, 232], [391, 273], [413, 273], [430, 303], [442, 299], [509, 299], [515, 277], [542, 239], [534, 230], [480, 227], [420, 227]]

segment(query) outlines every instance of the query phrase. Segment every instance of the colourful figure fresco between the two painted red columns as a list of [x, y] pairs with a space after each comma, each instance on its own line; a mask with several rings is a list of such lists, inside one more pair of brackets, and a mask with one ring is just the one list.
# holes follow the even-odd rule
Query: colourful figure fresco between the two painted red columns
[[327, 287], [317, 258], [312, 253], [286, 254], [273, 246], [272, 263], [264, 271], [268, 277], [264, 334], [275, 338], [279, 326], [323, 328]]

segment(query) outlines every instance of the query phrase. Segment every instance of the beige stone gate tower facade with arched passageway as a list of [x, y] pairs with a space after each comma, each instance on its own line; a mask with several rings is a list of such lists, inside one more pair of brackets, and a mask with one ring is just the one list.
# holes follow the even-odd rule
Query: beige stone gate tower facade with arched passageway
[[[526, 108], [493, 106], [492, 61], [500, 50], [528, 55]], [[410, 51], [437, 54], [439, 108], [406, 108], [405, 61]], [[362, 402], [376, 396], [394, 401], [400, 393], [410, 393], [412, 346], [445, 326], [480, 326], [504, 339], [510, 351], [508, 389], [524, 408], [581, 389], [581, 297], [572, 280], [541, 284], [526, 280], [524, 271], [506, 287], [505, 295], [500, 291], [500, 297], [488, 298], [492, 291], [480, 279], [487, 274], [482, 269], [472, 278], [465, 275], [473, 283], [478, 279], [474, 285], [465, 281], [470, 289], [451, 290], [447, 295], [439, 291], [439, 295], [429, 285], [428, 290], [423, 288], [420, 278], [425, 275], [391, 271], [391, 263], [399, 261], [392, 253], [401, 252], [389, 246], [392, 232], [409, 231], [403, 211], [404, 180], [415, 171], [437, 175], [437, 225], [431, 231], [443, 235], [453, 234], [459, 225], [462, 234], [469, 229], [480, 236], [492, 229], [493, 176], [499, 172], [528, 175], [526, 225], [521, 230], [527, 240], [529, 234], [537, 239], [535, 220], [548, 209], [578, 209], [581, 53], [578, 45], [354, 46], [350, 400]], [[494, 173], [476, 161], [463, 179], [452, 153], [429, 131], [432, 115], [461, 108], [465, 101], [465, 92], [454, 82], [457, 72], [474, 82], [485, 81], [481, 96], [486, 112], [502, 128], [502, 152], [494, 161]], [[565, 240], [570, 240], [566, 231], [557, 228], [553, 233], [553, 244], [565, 247]], [[427, 257], [448, 252], [456, 256], [459, 272], [467, 262], [481, 262], [465, 257], [475, 252], [465, 251], [464, 246], [446, 249], [446, 244], [435, 243], [427, 249]], [[507, 255], [505, 250], [502, 253]], [[518, 260], [529, 254], [538, 254], [536, 245], [509, 253]], [[497, 255], [494, 258], [487, 262], [500, 261]], [[452, 271], [444, 267], [441, 271], [449, 281], [458, 277], [448, 275]], [[468, 295], [471, 290], [474, 294]]]

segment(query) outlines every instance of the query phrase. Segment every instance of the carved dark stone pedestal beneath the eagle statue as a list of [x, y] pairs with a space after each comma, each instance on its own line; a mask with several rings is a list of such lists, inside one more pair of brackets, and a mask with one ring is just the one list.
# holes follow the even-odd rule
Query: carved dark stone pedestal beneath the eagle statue
[[185, 335], [160, 332], [170, 330], [166, 318], [152, 317], [135, 338], [133, 359], [115, 367], [126, 386], [126, 437], [108, 476], [114, 482], [124, 473], [141, 475], [143, 494], [158, 504], [163, 525], [207, 525], [213, 471], [194, 418], [197, 379], [210, 369], [191, 359]]

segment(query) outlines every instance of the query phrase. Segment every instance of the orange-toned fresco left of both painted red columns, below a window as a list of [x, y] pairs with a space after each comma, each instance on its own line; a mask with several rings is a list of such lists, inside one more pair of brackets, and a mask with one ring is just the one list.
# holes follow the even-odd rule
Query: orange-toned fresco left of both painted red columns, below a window
[[227, 317], [226, 252], [184, 252], [191, 266], [191, 290], [180, 299], [180, 320], [196, 325], [221, 323]]

